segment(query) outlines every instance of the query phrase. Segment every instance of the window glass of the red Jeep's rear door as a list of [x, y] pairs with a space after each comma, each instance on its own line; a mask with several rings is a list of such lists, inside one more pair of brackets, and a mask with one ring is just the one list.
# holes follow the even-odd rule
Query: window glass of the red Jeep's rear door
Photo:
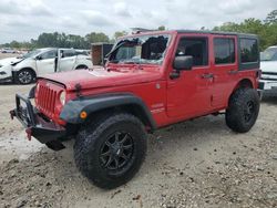
[[235, 63], [235, 40], [229, 38], [214, 39], [215, 64]]

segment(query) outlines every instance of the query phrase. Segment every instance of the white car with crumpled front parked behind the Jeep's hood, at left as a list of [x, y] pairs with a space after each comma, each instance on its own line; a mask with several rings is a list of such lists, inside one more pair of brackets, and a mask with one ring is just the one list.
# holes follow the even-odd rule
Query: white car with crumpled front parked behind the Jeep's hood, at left
[[0, 82], [30, 84], [43, 74], [92, 67], [85, 50], [45, 48], [0, 60]]

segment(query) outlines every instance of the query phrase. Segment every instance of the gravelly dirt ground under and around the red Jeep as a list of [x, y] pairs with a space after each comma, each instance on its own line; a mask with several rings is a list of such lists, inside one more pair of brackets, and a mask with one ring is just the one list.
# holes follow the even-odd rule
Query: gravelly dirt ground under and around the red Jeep
[[14, 94], [30, 89], [0, 85], [0, 207], [277, 207], [277, 98], [263, 102], [247, 134], [224, 116], [156, 132], [136, 177], [105, 191], [75, 168], [73, 142], [55, 153], [10, 121]]

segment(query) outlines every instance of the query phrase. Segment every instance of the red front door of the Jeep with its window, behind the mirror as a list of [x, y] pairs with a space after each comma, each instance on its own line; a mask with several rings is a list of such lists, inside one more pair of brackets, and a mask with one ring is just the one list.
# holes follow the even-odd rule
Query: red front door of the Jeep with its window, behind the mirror
[[[179, 119], [204, 115], [211, 111], [213, 74], [208, 61], [207, 35], [181, 37], [176, 55], [192, 55], [193, 69], [179, 71], [178, 77], [168, 77], [167, 115]], [[173, 65], [173, 64], [172, 64]], [[173, 66], [171, 72], [175, 70]]]

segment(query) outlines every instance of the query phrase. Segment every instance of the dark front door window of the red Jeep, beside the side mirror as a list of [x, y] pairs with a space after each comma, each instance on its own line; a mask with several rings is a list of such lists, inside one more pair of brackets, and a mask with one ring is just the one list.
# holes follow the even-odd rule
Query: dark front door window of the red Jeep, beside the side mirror
[[176, 51], [176, 56], [192, 55], [193, 65], [208, 64], [207, 38], [182, 38]]

